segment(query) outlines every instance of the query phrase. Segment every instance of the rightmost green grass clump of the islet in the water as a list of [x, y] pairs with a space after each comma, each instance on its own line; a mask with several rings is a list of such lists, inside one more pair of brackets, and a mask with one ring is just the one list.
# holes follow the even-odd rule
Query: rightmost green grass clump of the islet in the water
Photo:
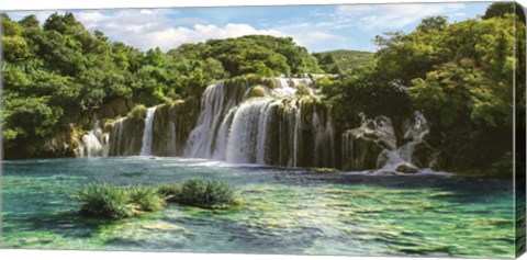
[[181, 185], [161, 185], [158, 193], [169, 202], [202, 208], [226, 208], [239, 204], [232, 188], [217, 180], [190, 179]]

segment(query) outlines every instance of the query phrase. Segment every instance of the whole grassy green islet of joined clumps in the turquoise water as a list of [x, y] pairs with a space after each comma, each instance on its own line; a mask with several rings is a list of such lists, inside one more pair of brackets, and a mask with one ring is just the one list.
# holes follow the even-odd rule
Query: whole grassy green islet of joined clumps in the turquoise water
[[105, 218], [126, 218], [161, 211], [167, 203], [206, 210], [239, 205], [228, 184], [204, 179], [190, 179], [182, 184], [161, 184], [158, 188], [94, 183], [85, 186], [74, 199], [82, 203], [80, 214]]

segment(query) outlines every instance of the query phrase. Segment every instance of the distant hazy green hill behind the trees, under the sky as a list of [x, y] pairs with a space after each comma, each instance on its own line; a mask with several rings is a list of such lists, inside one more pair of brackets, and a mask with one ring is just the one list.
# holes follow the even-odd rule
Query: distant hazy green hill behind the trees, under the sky
[[337, 49], [324, 53], [314, 53], [318, 66], [328, 74], [346, 74], [354, 68], [373, 61], [373, 53], [360, 50]]

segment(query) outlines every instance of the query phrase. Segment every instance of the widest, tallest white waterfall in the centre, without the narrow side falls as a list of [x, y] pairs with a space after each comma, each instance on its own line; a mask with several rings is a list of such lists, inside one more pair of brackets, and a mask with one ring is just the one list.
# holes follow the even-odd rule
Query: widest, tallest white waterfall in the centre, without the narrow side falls
[[[316, 142], [318, 146], [334, 144], [333, 123], [328, 116], [323, 116], [324, 122], [316, 124], [313, 129], [314, 133], [323, 134], [314, 135], [314, 139], [305, 138], [303, 117], [312, 118], [316, 115], [304, 114], [324, 113], [323, 110], [316, 109], [310, 112], [302, 110], [304, 100], [309, 100], [311, 105], [315, 106], [314, 102], [318, 99], [309, 87], [311, 80], [289, 78], [274, 80], [277, 82], [274, 89], [258, 86], [268, 94], [257, 98], [250, 98], [255, 86], [234, 90], [221, 83], [210, 86], [203, 95], [198, 126], [192, 131], [188, 142], [187, 157], [211, 158], [233, 163], [315, 166], [313, 160], [309, 162], [309, 159], [304, 158], [307, 157], [304, 154], [309, 152], [302, 149], [303, 144], [306, 142]], [[307, 88], [307, 93], [296, 95], [299, 86]], [[283, 132], [279, 127], [283, 127]], [[332, 148], [325, 148], [329, 149]], [[328, 152], [328, 157], [330, 156], [333, 152]], [[326, 161], [333, 161], [333, 158]], [[316, 166], [327, 165], [321, 162]]]

